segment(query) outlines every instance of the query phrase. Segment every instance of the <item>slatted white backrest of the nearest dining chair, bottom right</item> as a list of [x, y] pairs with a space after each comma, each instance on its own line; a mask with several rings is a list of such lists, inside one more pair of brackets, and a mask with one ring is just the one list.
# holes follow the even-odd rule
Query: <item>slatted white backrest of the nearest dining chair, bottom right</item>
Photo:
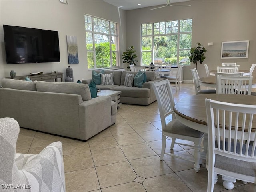
[[206, 113], [209, 153], [248, 162], [256, 161], [256, 133], [253, 127], [256, 105], [206, 99]]

